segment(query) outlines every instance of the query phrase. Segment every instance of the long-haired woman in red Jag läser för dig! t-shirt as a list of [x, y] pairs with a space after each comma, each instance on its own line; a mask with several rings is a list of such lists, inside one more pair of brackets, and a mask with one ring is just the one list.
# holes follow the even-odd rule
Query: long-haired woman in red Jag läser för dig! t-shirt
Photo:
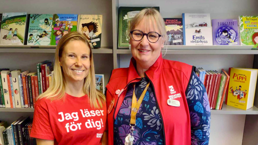
[[106, 144], [106, 99], [95, 84], [89, 42], [68, 33], [56, 48], [52, 84], [35, 104], [30, 136], [38, 145]]

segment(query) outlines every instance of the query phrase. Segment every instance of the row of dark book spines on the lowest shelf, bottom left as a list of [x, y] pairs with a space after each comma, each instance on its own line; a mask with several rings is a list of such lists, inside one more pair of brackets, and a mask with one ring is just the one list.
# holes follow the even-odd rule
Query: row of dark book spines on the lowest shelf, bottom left
[[36, 145], [36, 139], [30, 137], [32, 120], [27, 124], [16, 124], [2, 132], [4, 145]]

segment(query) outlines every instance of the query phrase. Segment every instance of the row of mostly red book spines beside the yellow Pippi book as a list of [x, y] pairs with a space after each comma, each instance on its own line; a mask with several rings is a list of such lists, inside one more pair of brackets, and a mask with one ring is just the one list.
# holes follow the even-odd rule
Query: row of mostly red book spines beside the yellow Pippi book
[[[225, 93], [228, 86], [229, 76], [225, 70], [205, 71], [202, 82], [206, 88], [211, 109], [222, 109]], [[223, 75], [222, 75], [223, 74]]]

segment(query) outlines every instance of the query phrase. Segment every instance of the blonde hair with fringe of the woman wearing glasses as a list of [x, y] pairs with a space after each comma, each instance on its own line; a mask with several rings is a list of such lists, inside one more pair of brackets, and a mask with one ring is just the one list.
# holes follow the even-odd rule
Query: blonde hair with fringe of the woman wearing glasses
[[[167, 31], [165, 27], [165, 22], [162, 16], [159, 14], [155, 8], [145, 8], [141, 10], [132, 20], [130, 21], [130, 29], [128, 30], [128, 35], [130, 36], [130, 31], [133, 31], [135, 26], [137, 26], [142, 20], [150, 20], [154, 27], [156, 24], [157, 29], [160, 31], [160, 35], [163, 37], [164, 41], [167, 41]], [[150, 21], [146, 21], [146, 27], [151, 26]]]

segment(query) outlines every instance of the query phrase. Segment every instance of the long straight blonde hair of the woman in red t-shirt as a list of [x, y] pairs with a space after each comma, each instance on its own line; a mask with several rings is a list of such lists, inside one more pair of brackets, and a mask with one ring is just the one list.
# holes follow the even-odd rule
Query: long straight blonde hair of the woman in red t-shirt
[[56, 47], [55, 51], [55, 62], [54, 62], [54, 77], [52, 79], [52, 83], [49, 88], [41, 95], [37, 97], [38, 99], [46, 98], [50, 100], [59, 100], [64, 99], [65, 97], [65, 88], [66, 82], [64, 73], [60, 67], [60, 59], [62, 58], [62, 52], [65, 48], [65, 45], [70, 41], [79, 40], [86, 43], [90, 49], [90, 69], [89, 74], [84, 79], [84, 93], [89, 96], [89, 102], [91, 107], [94, 108], [102, 108], [103, 103], [106, 101], [105, 95], [99, 90], [96, 90], [96, 80], [95, 80], [95, 70], [94, 70], [94, 62], [93, 55], [91, 51], [91, 46], [87, 41], [86, 37], [77, 32], [71, 32], [62, 37]]

